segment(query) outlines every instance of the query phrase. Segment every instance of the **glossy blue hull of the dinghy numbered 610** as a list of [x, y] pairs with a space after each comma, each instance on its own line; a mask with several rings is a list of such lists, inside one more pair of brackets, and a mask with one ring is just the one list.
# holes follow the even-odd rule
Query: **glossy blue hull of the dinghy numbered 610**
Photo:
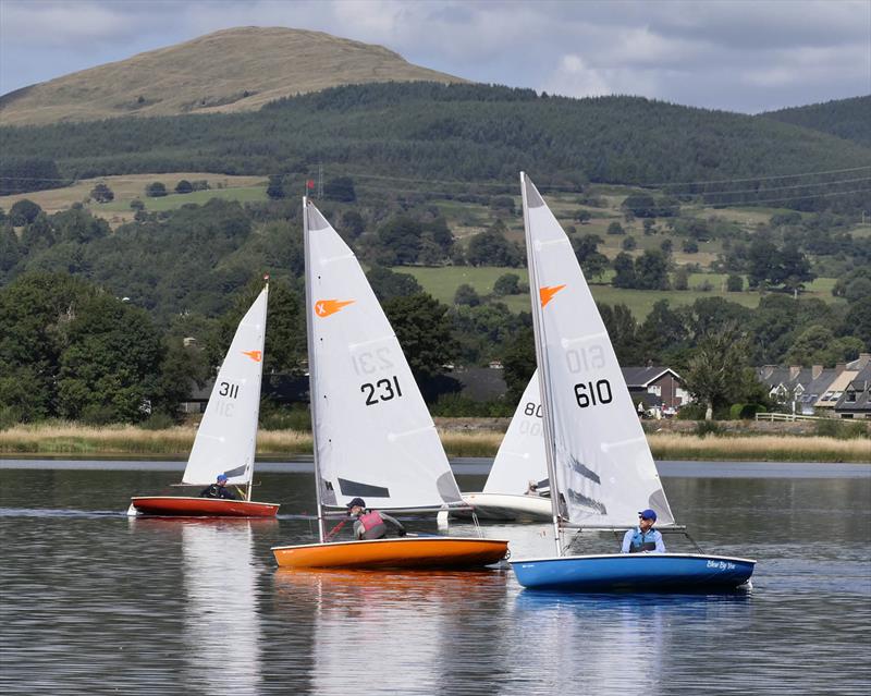
[[747, 583], [756, 561], [695, 553], [564, 555], [510, 561], [530, 589], [571, 591], [702, 591]]

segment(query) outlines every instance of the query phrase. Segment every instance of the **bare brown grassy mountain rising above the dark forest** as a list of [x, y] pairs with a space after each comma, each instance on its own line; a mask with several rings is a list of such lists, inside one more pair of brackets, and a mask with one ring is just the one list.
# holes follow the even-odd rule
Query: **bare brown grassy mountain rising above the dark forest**
[[465, 82], [381, 46], [320, 32], [238, 27], [0, 97], [0, 124], [255, 111], [268, 101], [373, 82]]

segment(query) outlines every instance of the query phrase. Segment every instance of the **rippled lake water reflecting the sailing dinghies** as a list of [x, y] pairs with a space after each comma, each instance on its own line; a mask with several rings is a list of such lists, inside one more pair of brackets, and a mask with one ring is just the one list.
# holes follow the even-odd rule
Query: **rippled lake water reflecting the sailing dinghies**
[[[124, 514], [131, 494], [177, 494], [161, 471], [177, 464], [0, 465], [3, 694], [871, 691], [868, 466], [661, 466], [706, 551], [758, 559], [752, 590], [573, 596], [524, 590], [507, 569], [279, 570], [270, 546], [315, 534], [305, 466], [258, 473], [277, 521], [182, 522]], [[543, 526], [487, 534], [515, 558], [551, 552]]]

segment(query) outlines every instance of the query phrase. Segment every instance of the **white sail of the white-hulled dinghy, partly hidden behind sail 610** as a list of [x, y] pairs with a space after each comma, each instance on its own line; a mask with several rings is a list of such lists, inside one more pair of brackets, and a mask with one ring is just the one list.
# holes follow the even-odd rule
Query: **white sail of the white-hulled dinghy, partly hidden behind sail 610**
[[499, 445], [483, 492], [522, 496], [529, 490], [530, 483], [538, 488], [549, 485], [538, 370], [526, 386], [508, 430]]

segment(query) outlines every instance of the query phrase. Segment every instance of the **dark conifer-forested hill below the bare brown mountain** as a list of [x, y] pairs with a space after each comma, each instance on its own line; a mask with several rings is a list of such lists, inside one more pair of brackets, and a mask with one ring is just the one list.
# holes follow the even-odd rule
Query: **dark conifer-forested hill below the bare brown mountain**
[[[57, 166], [66, 179], [170, 171], [310, 176], [320, 163], [329, 175], [500, 182], [511, 191], [520, 170], [543, 186], [586, 178], [680, 184], [667, 190], [674, 194], [759, 188], [757, 200], [783, 198], [782, 191], [764, 191], [765, 178], [871, 166], [867, 147], [768, 118], [637, 97], [571, 99], [438, 83], [343, 86], [253, 113], [4, 127], [0, 150], [25, 183], [28, 162]], [[737, 188], [684, 185], [752, 178], [760, 181]], [[711, 203], [746, 200], [735, 194]]]

